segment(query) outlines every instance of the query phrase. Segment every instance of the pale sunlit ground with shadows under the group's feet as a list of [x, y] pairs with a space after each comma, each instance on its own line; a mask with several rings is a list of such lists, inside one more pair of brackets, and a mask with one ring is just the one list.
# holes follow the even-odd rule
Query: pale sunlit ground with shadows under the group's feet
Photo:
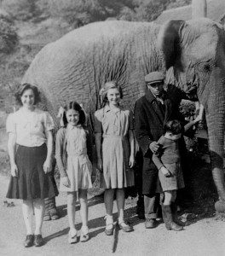
[[[56, 199], [61, 218], [43, 223], [44, 246], [24, 248], [22, 242], [26, 230], [22, 221], [21, 202], [13, 201], [14, 207], [7, 207], [4, 203], [8, 183], [9, 177], [0, 176], [1, 255], [225, 255], [225, 222], [216, 220], [213, 210], [214, 200], [210, 200], [206, 195], [199, 195], [200, 203], [195, 202], [194, 207], [181, 212], [182, 217], [193, 216], [193, 218], [187, 221], [185, 230], [180, 232], [165, 230], [162, 221], [156, 229], [146, 230], [144, 222], [136, 216], [136, 199], [127, 199], [125, 217], [133, 224], [135, 231], [124, 233], [122, 230], [117, 230], [114, 236], [115, 253], [112, 253], [113, 236], [106, 236], [104, 233], [105, 209], [102, 196], [89, 198], [90, 240], [69, 245], [66, 195], [61, 194]], [[187, 212], [194, 214], [188, 215]], [[114, 219], [116, 220], [116, 213]], [[77, 214], [78, 230], [80, 227], [80, 217]]]

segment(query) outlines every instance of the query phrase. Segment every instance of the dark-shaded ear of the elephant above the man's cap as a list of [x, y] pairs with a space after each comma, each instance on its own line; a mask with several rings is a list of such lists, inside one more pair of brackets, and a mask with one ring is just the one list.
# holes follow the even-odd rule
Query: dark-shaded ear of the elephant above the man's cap
[[180, 31], [185, 24], [184, 20], [170, 20], [159, 30], [157, 45], [163, 52], [166, 69], [174, 66], [180, 56]]

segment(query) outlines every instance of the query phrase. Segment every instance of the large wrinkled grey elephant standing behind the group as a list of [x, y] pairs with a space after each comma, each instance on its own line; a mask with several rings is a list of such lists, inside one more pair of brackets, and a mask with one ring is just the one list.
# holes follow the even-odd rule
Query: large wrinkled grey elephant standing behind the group
[[[144, 76], [168, 73], [185, 93], [192, 92], [205, 107], [212, 176], [225, 210], [222, 171], [224, 144], [225, 34], [207, 18], [153, 22], [108, 20], [90, 23], [47, 44], [35, 56], [22, 83], [37, 85], [43, 104], [56, 120], [60, 106], [75, 100], [89, 113], [100, 107], [99, 90], [116, 80], [123, 104], [134, 107], [145, 91]], [[218, 207], [219, 205], [219, 207]]]

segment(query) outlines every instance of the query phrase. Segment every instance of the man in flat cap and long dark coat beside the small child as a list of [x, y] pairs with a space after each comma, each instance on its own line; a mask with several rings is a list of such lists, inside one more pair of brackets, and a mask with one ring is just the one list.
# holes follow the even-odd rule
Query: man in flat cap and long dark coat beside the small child
[[159, 137], [163, 135], [164, 124], [175, 119], [172, 103], [164, 91], [164, 74], [148, 73], [145, 76], [146, 94], [136, 101], [135, 133], [143, 154], [142, 193], [144, 195], [145, 226], [157, 226], [157, 210], [161, 193], [158, 169], [153, 164], [153, 153], [159, 149]]

